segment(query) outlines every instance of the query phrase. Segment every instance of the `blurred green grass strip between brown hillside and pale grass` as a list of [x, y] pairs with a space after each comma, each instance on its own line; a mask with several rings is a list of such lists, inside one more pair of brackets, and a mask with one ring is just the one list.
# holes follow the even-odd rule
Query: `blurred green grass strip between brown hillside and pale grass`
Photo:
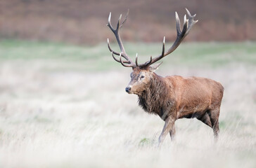
[[[125, 43], [127, 53], [135, 59], [139, 53], [139, 62], [146, 62], [150, 55], [161, 52], [161, 43]], [[113, 49], [119, 51], [117, 44]], [[171, 46], [167, 43], [166, 46]], [[222, 66], [231, 63], [256, 64], [256, 43], [182, 43], [177, 50], [168, 55], [163, 66]], [[77, 46], [64, 43], [35, 41], [0, 41], [0, 60], [56, 60], [59, 62], [77, 62], [76, 68], [103, 71], [120, 66], [113, 60], [106, 43], [94, 46]], [[66, 66], [65, 66], [66, 67]], [[74, 67], [70, 67], [74, 68]]]

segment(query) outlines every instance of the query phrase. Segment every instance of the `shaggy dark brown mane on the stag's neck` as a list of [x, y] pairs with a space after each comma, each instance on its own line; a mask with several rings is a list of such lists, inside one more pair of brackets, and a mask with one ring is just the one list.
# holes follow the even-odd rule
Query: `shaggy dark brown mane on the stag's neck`
[[168, 87], [161, 76], [153, 73], [148, 87], [143, 91], [139, 97], [139, 106], [148, 113], [155, 113], [161, 115], [160, 107], [165, 104], [167, 100]]

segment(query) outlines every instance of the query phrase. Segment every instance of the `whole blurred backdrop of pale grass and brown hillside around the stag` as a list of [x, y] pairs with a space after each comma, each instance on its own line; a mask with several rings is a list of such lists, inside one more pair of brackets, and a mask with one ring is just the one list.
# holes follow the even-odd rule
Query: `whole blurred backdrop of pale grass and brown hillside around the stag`
[[[199, 20], [162, 59], [160, 76], [224, 85], [220, 136], [196, 119], [164, 122], [127, 94], [132, 69], [115, 62], [112, 12], [132, 59], [159, 55], [176, 38], [175, 11]], [[0, 167], [256, 167], [255, 0], [1, 0]]]

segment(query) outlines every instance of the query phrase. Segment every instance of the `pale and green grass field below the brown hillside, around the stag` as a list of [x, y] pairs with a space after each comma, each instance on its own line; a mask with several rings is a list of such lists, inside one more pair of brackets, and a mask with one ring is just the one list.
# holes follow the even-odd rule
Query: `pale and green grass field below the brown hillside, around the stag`
[[[160, 43], [126, 43], [139, 62]], [[256, 43], [183, 43], [161, 76], [221, 82], [220, 137], [177, 120], [177, 141], [157, 147], [164, 122], [124, 92], [132, 69], [106, 43], [0, 42], [0, 167], [256, 167]], [[117, 50], [117, 45], [113, 45]]]

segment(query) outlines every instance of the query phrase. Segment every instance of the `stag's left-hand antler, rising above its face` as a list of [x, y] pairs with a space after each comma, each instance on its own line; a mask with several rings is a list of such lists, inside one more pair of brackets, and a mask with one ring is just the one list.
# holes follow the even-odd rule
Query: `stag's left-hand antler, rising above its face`
[[[132, 59], [130, 59], [129, 56], [127, 55], [127, 53], [125, 52], [124, 45], [122, 45], [122, 41], [121, 41], [120, 34], [119, 34], [119, 29], [124, 25], [124, 22], [127, 21], [128, 14], [129, 14], [129, 10], [127, 11], [127, 15], [125, 16], [122, 23], [121, 23], [122, 14], [120, 15], [120, 18], [118, 19], [118, 22], [117, 22], [117, 28], [116, 29], [113, 29], [113, 26], [111, 25], [111, 21], [110, 21], [111, 20], [111, 13], [109, 14], [108, 25], [107, 26], [115, 34], [115, 38], [117, 39], [117, 43], [120, 47], [121, 52], [115, 52], [114, 50], [112, 50], [112, 48], [110, 48], [109, 40], [108, 40], [108, 49], [112, 53], [112, 56], [115, 59], [115, 61], [120, 62], [123, 66], [136, 67], [136, 64], [134, 64], [134, 62], [132, 62]], [[115, 55], [119, 55], [120, 59], [117, 59], [115, 57]], [[122, 57], [124, 57], [124, 59], [126, 59], [126, 60], [122, 60]]]

